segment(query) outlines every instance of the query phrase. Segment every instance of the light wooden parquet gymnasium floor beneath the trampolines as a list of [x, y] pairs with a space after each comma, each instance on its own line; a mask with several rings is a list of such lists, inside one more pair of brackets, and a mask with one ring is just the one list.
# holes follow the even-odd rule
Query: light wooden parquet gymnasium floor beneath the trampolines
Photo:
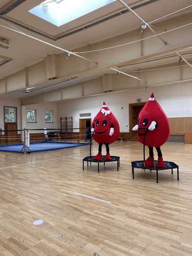
[[[110, 153], [120, 156], [119, 172], [106, 163], [98, 174], [94, 163], [82, 170], [89, 146], [1, 152], [0, 255], [192, 255], [192, 144], [162, 147], [180, 180], [163, 170], [158, 184], [153, 171], [135, 169], [132, 179], [142, 144], [115, 142]], [[33, 225], [38, 219], [44, 223]]]

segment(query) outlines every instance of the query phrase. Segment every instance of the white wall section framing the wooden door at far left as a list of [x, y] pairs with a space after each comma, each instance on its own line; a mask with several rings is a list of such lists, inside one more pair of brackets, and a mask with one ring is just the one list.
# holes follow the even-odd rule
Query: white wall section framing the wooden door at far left
[[0, 128], [4, 130], [4, 106], [14, 106], [17, 108], [17, 129], [21, 128], [22, 113], [20, 108], [20, 99], [0, 98]]

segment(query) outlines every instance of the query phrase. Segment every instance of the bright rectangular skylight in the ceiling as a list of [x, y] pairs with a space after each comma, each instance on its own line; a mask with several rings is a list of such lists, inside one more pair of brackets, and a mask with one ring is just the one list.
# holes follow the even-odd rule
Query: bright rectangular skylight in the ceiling
[[60, 27], [116, 0], [46, 0], [30, 13]]

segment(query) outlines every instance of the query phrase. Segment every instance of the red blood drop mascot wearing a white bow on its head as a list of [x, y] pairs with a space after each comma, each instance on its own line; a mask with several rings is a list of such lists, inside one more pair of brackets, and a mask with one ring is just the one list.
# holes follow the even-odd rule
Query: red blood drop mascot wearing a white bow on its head
[[106, 146], [106, 157], [104, 160], [112, 160], [109, 144], [119, 137], [119, 123], [105, 102], [103, 102], [101, 110], [92, 122], [91, 132], [94, 132], [93, 138], [99, 143], [99, 152], [94, 157], [94, 160], [102, 160], [102, 144]]

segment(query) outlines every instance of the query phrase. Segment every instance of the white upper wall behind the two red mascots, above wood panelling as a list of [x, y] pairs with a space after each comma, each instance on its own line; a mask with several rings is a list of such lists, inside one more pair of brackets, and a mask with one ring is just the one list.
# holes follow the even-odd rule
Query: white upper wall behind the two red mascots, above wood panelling
[[91, 112], [93, 120], [103, 101], [105, 101], [119, 121], [120, 131], [129, 132], [132, 128], [129, 127], [129, 104], [137, 102], [138, 98], [141, 98], [142, 102], [147, 101], [152, 92], [167, 117], [192, 116], [192, 84], [191, 82], [180, 82], [178, 84], [149, 88], [148, 90], [136, 89], [57, 102], [58, 127], [60, 125], [60, 117], [72, 116], [74, 128], [79, 127], [80, 113]]

